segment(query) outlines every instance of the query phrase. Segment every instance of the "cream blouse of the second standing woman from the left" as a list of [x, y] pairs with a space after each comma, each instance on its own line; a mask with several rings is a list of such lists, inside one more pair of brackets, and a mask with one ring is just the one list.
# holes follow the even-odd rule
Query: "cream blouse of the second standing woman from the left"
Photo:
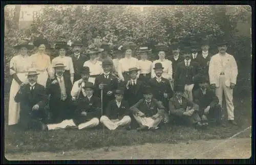
[[30, 57], [32, 60], [32, 67], [35, 68], [38, 72], [45, 72], [46, 70], [49, 72], [49, 70], [52, 70], [50, 56], [36, 53]]

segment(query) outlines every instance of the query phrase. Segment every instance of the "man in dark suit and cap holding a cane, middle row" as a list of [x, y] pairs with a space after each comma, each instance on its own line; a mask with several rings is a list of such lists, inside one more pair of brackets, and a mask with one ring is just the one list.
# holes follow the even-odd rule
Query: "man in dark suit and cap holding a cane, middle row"
[[117, 77], [111, 74], [111, 69], [113, 68], [113, 62], [109, 60], [102, 61], [103, 74], [99, 75], [95, 79], [95, 96], [101, 97], [102, 90], [102, 100], [103, 100], [103, 114], [105, 114], [105, 109], [108, 103], [115, 98], [114, 91], [117, 89], [118, 80]]

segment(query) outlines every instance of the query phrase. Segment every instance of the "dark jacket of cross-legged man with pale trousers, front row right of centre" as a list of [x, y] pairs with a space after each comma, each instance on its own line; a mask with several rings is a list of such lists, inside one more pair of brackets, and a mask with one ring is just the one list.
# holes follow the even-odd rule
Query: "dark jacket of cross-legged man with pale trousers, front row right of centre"
[[154, 98], [151, 99], [151, 104], [149, 107], [146, 105], [146, 101], [141, 99], [130, 109], [133, 112], [141, 111], [146, 117], [151, 117], [157, 113], [163, 115], [163, 112], [165, 111], [165, 107], [162, 105], [162, 103]]

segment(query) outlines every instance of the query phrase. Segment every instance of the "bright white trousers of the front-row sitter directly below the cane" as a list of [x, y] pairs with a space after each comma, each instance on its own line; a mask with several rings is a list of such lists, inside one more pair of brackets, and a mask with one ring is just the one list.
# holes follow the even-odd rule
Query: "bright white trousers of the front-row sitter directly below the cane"
[[126, 115], [123, 116], [123, 119], [121, 120], [110, 120], [108, 116], [101, 116], [100, 117], [100, 123], [102, 123], [106, 128], [108, 128], [109, 130], [115, 130], [117, 127], [119, 126], [127, 126], [130, 125], [132, 119], [130, 116]]

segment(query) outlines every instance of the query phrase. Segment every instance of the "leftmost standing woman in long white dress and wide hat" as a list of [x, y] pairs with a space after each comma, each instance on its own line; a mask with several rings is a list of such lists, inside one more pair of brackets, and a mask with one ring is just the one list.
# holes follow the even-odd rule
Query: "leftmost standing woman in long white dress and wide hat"
[[13, 80], [10, 88], [8, 125], [15, 125], [19, 120], [20, 107], [19, 103], [14, 101], [14, 97], [19, 87], [28, 83], [26, 74], [31, 68], [32, 62], [27, 53], [33, 47], [33, 44], [29, 44], [28, 41], [20, 41], [14, 46], [15, 49], [19, 50], [19, 55], [12, 57], [10, 61], [10, 75]]

